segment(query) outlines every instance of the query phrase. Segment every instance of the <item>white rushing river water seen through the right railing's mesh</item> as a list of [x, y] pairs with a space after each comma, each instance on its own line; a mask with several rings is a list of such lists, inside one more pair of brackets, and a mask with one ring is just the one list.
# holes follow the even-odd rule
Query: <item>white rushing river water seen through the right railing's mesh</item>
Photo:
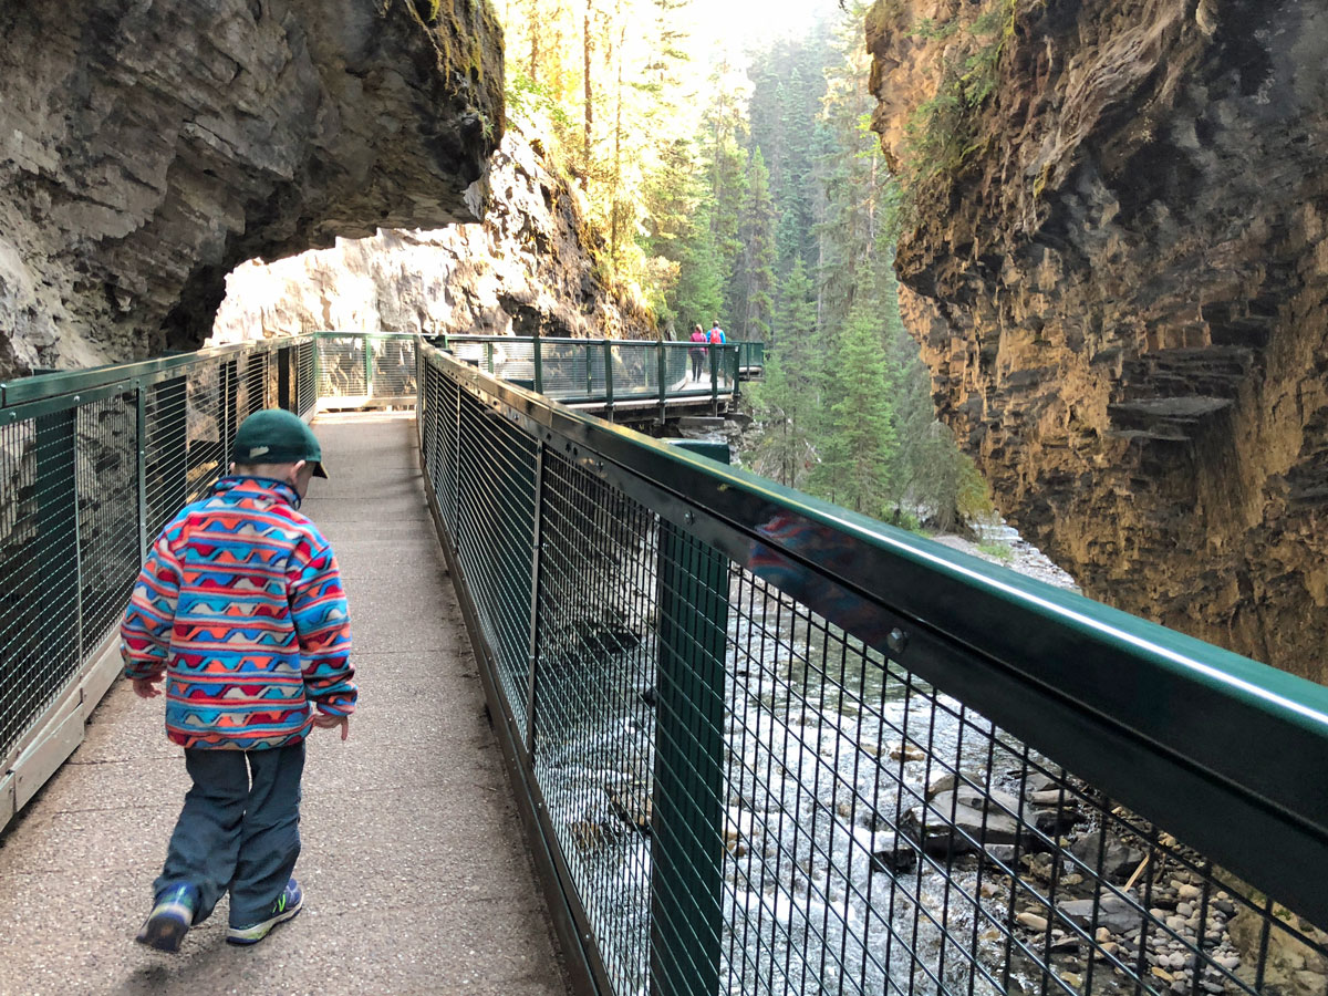
[[[872, 853], [928, 782], [957, 766], [988, 785], [993, 757], [1023, 748], [776, 592], [752, 599], [752, 583], [733, 575], [728, 624], [721, 989], [883, 992], [888, 964], [903, 992], [1004, 992], [973, 971], [976, 957], [1000, 977], [1004, 959], [992, 924], [1007, 900], [991, 871], [980, 880], [973, 858], [923, 862], [896, 886]], [[548, 693], [574, 705], [556, 729], [546, 718], [537, 752], [624, 993], [647, 989], [655, 660], [647, 639], [584, 661]], [[981, 914], [969, 898], [980, 891]]]

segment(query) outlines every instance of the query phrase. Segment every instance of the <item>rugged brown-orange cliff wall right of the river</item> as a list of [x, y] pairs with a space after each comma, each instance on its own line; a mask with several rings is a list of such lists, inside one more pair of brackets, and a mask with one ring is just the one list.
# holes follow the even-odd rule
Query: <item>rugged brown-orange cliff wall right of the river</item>
[[[874, 8], [895, 163], [963, 39], [920, 19], [992, 5]], [[899, 246], [938, 406], [1089, 595], [1325, 681], [1328, 9], [1019, 0], [1012, 23]]]

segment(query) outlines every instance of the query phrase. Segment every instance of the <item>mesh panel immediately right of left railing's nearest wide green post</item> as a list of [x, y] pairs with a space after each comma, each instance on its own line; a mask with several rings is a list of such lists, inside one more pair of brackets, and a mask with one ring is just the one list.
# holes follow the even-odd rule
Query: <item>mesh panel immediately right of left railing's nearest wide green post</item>
[[89, 655], [120, 622], [139, 564], [134, 393], [78, 408], [77, 458], [80, 611]]

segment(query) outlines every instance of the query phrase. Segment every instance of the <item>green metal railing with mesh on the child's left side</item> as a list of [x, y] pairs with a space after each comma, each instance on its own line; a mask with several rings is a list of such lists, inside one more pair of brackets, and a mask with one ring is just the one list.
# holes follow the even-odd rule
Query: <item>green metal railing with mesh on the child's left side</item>
[[224, 471], [247, 414], [312, 414], [315, 360], [304, 336], [0, 385], [0, 825], [118, 672], [147, 544]]

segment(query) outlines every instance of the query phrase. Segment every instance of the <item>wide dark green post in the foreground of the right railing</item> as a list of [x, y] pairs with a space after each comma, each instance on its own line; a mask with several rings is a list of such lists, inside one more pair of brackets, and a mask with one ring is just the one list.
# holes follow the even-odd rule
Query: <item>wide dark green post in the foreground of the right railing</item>
[[[717, 456], [714, 449], [710, 444], [706, 456]], [[713, 996], [724, 890], [729, 563], [671, 522], [660, 530], [659, 556], [651, 996]]]

